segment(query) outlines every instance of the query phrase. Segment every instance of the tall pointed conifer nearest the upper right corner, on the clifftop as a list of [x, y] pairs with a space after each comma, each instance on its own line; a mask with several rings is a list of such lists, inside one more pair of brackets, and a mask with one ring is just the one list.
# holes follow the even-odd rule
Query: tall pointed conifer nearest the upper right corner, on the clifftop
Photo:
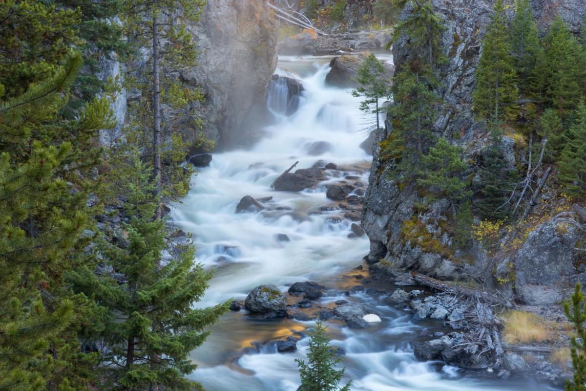
[[551, 23], [544, 46], [547, 99], [565, 116], [575, 108], [584, 92], [580, 85], [586, 72], [584, 49], [559, 15]]

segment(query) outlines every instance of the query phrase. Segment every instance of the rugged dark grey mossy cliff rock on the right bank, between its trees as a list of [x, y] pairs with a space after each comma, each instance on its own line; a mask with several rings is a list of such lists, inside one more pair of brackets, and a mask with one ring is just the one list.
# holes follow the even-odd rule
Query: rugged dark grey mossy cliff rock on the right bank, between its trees
[[[476, 63], [493, 1], [432, 0], [432, 3], [447, 26], [442, 42], [449, 60], [442, 69], [444, 87], [440, 91], [447, 104], [434, 124], [434, 131], [438, 136], [447, 137], [452, 144], [463, 147], [466, 160], [473, 162], [473, 157], [482, 153], [489, 144], [485, 128], [475, 121], [472, 113], [472, 91]], [[510, 3], [513, 5], [514, 1]], [[584, 23], [586, 2], [582, 0], [535, 0], [532, 5], [541, 32], [547, 29], [557, 13], [575, 32]], [[404, 39], [393, 47], [397, 70], [406, 61], [405, 47]], [[389, 121], [386, 127], [387, 132], [392, 131]], [[380, 142], [383, 131], [377, 132], [376, 138]], [[522, 157], [516, 154], [512, 138], [504, 137], [500, 149], [510, 166], [520, 163]], [[404, 237], [402, 229], [407, 220], [416, 216], [423, 223], [428, 239], [437, 243], [436, 247], [451, 247], [454, 237], [444, 229], [448, 203], [438, 200], [423, 212], [418, 210], [417, 204], [423, 198], [418, 196], [414, 186], [407, 185], [400, 189], [397, 183], [386, 177], [384, 172], [387, 167], [379, 160], [379, 152], [379, 145], [375, 143], [362, 215], [362, 225], [370, 238], [369, 263], [384, 258], [386, 264], [390, 263], [396, 271], [415, 270], [447, 280], [469, 280], [472, 277], [527, 304], [556, 302], [561, 298], [562, 290], [573, 284], [571, 276], [581, 272], [581, 262], [574, 247], [584, 232], [573, 228], [555, 229], [566, 217], [576, 217], [568, 210], [571, 208], [565, 208], [565, 215], [536, 222], [533, 232], [520, 239], [522, 243], [517, 243], [508, 254], [489, 255], [476, 242], [466, 254], [459, 250], [449, 251], [449, 254], [426, 251], [420, 245], [421, 241]], [[475, 164], [469, 166], [471, 174], [476, 171]], [[547, 295], [543, 294], [544, 291]]]

